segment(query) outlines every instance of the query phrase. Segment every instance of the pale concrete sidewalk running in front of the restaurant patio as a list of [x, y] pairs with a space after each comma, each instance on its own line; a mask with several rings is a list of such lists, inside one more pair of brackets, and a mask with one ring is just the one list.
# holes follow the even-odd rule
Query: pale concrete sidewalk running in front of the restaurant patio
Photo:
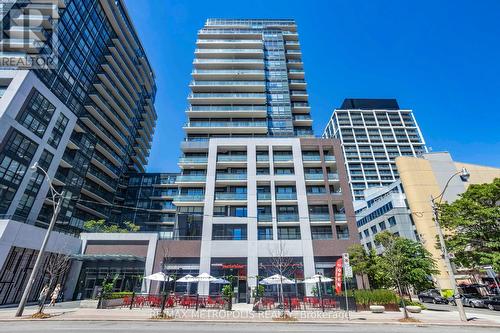
[[[59, 321], [149, 321], [158, 313], [152, 308], [128, 308], [117, 309], [89, 309], [79, 308], [78, 303], [63, 304], [57, 307], [46, 308], [45, 313], [53, 317], [44, 320]], [[15, 318], [15, 309], [0, 309], [0, 321], [32, 320], [31, 314], [36, 312], [36, 307], [27, 307], [22, 318]], [[253, 312], [251, 305], [235, 304], [233, 311], [200, 309], [167, 309], [167, 314], [174, 317], [173, 321], [208, 321], [208, 322], [275, 322], [280, 311]], [[469, 322], [460, 322], [458, 312], [437, 312], [424, 310], [422, 313], [410, 314], [412, 318], [419, 320], [417, 323], [401, 323], [402, 312], [385, 312], [374, 314], [369, 311], [350, 312], [350, 320], [347, 320], [345, 311], [293, 311], [287, 312], [297, 318], [297, 323], [317, 324], [398, 324], [398, 325], [446, 325], [446, 326], [488, 326], [500, 328], [500, 316], [495, 314], [471, 314]], [[35, 319], [37, 320], [37, 319]], [[39, 319], [38, 319], [39, 320]]]

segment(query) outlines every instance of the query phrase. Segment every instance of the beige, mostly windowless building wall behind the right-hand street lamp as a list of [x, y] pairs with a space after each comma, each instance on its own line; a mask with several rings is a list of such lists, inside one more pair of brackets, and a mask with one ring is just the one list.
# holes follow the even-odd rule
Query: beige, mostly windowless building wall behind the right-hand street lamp
[[[431, 195], [439, 196], [443, 190], [443, 201], [453, 202], [465, 192], [470, 184], [491, 183], [500, 177], [500, 169], [481, 165], [455, 162], [447, 152], [423, 154], [421, 158], [398, 157], [396, 159], [401, 184], [405, 190], [416, 230], [425, 248], [432, 253], [439, 274], [434, 276], [440, 289], [450, 289], [449, 275], [442, 258], [441, 250], [436, 248], [437, 230], [432, 214]], [[458, 174], [462, 168], [470, 173], [468, 180]], [[464, 277], [465, 280], [468, 277]]]

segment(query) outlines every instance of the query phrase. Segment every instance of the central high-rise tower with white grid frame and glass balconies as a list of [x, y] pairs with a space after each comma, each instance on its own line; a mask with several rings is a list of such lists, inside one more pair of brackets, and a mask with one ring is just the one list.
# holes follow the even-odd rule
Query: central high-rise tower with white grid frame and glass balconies
[[354, 211], [340, 143], [312, 137], [295, 21], [209, 19], [196, 45], [176, 264], [237, 276], [239, 300], [279, 255], [297, 277], [331, 275], [356, 241]]

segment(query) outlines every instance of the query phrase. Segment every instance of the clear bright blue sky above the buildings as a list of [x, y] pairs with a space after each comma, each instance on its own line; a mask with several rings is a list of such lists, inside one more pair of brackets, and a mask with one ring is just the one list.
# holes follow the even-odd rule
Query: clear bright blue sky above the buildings
[[148, 171], [175, 172], [206, 18], [294, 18], [314, 131], [346, 97], [397, 98], [428, 147], [500, 167], [500, 1], [125, 0], [157, 77]]

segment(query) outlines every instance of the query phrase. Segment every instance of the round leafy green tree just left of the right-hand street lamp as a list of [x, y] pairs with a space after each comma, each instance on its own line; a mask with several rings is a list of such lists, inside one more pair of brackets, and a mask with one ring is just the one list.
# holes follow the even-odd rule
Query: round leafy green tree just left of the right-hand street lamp
[[[377, 270], [385, 274], [385, 282], [395, 288], [402, 299], [409, 287], [421, 290], [432, 286], [430, 276], [437, 273], [436, 263], [422, 244], [388, 231], [377, 234], [375, 242], [384, 248]], [[406, 309], [404, 313], [405, 318], [408, 317]]]

